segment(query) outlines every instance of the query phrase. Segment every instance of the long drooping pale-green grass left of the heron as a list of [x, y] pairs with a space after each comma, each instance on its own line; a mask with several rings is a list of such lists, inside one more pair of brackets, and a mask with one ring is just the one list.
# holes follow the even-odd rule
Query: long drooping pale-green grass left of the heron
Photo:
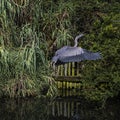
[[50, 82], [53, 78], [45, 55], [46, 35], [38, 29], [35, 6], [28, 13], [28, 8], [37, 4], [23, 1], [5, 0], [0, 4], [0, 95], [38, 96], [46, 84], [50, 88], [46, 94], [48, 91], [52, 96], [56, 89]]

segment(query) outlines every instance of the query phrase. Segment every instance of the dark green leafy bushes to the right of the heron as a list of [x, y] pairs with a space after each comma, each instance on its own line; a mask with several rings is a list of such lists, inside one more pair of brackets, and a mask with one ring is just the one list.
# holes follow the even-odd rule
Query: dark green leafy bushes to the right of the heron
[[[83, 46], [92, 51], [101, 52], [102, 60], [83, 62], [84, 68], [81, 75], [83, 94], [86, 98], [104, 101], [120, 92], [120, 14], [117, 12], [119, 7], [116, 2], [111, 4], [98, 2], [98, 4], [97, 10], [89, 8], [90, 14], [93, 14], [91, 16], [93, 21], [91, 25], [86, 26], [89, 34]], [[120, 3], [117, 4], [120, 5]], [[106, 6], [105, 9], [103, 6]], [[85, 10], [88, 9], [86, 7]], [[92, 7], [95, 7], [94, 4]], [[111, 11], [110, 8], [114, 10]], [[97, 18], [94, 14], [98, 15]]]

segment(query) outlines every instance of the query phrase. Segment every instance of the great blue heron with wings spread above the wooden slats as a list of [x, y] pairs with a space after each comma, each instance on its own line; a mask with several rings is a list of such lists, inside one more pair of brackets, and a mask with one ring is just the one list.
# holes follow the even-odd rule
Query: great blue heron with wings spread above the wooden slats
[[55, 52], [55, 56], [52, 58], [52, 65], [61, 65], [69, 62], [79, 62], [83, 60], [97, 60], [101, 59], [99, 52], [91, 52], [81, 47], [77, 47], [78, 39], [84, 36], [80, 34], [75, 38], [75, 45], [64, 46]]

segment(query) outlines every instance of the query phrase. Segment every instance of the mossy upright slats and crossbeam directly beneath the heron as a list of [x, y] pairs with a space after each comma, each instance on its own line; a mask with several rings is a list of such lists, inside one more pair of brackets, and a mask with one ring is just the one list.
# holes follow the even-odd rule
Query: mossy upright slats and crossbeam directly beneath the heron
[[55, 67], [53, 77], [60, 82], [80, 82], [81, 64], [72, 62]]

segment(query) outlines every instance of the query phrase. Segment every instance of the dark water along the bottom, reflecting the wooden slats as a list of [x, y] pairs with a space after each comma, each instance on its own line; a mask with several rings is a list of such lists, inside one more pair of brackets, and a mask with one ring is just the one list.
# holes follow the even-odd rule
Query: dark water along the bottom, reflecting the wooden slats
[[1, 99], [0, 120], [120, 120], [120, 101], [108, 100], [101, 108], [79, 97]]

